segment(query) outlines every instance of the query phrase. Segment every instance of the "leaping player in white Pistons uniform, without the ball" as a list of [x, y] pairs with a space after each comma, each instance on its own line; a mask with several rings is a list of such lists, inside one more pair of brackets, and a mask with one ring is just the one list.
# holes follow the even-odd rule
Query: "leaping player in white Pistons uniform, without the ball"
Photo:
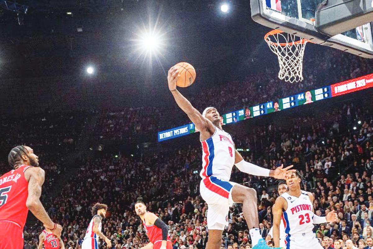
[[[200, 193], [208, 205], [207, 226], [209, 238], [206, 249], [219, 249], [223, 230], [228, 225], [228, 211], [233, 203], [242, 203], [245, 220], [250, 230], [253, 245], [256, 248], [268, 248], [259, 233], [259, 219], [257, 212], [257, 194], [253, 188], [244, 187], [230, 182], [233, 164], [242, 172], [257, 176], [272, 176], [284, 179], [292, 166], [283, 169], [269, 170], [245, 162], [235, 149], [232, 137], [222, 129], [220, 115], [214, 107], [207, 107], [201, 114], [176, 89], [176, 80], [179, 77], [178, 68], [172, 67], [168, 71], [168, 87], [176, 104], [183, 110], [200, 131], [202, 143], [203, 168], [200, 176]], [[254, 248], [254, 249], [256, 249]]]

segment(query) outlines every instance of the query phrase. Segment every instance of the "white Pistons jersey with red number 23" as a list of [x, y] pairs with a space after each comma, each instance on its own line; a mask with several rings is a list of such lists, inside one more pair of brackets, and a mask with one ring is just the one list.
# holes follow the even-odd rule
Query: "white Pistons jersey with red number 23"
[[308, 192], [301, 190], [299, 197], [288, 193], [283, 193], [281, 196], [288, 203], [288, 208], [282, 212], [281, 217], [285, 225], [286, 239], [294, 234], [312, 233], [314, 213]]

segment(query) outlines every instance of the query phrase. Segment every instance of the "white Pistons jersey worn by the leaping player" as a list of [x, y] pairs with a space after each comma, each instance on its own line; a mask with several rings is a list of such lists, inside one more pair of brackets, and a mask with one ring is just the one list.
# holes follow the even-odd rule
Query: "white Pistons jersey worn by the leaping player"
[[224, 181], [231, 178], [235, 148], [231, 135], [215, 127], [215, 133], [202, 143], [202, 178], [214, 176]]

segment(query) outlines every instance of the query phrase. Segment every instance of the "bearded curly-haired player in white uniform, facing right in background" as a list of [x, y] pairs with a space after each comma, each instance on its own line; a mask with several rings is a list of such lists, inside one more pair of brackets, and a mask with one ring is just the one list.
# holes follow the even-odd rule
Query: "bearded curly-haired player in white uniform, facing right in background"
[[107, 205], [102, 203], [95, 203], [92, 207], [93, 218], [88, 225], [82, 243], [82, 249], [98, 249], [98, 237], [105, 240], [108, 248], [112, 248], [112, 242], [101, 232], [102, 219], [105, 218]]

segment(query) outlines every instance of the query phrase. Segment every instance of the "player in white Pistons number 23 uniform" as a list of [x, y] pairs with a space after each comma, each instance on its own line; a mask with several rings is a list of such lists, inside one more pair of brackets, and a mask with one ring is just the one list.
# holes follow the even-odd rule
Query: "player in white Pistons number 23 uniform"
[[286, 176], [289, 191], [281, 194], [273, 205], [273, 241], [280, 245], [280, 221], [285, 226], [286, 249], [322, 249], [313, 233], [313, 223], [335, 222], [337, 214], [329, 212], [326, 217], [313, 213], [313, 195], [301, 190], [300, 173], [292, 172]]

